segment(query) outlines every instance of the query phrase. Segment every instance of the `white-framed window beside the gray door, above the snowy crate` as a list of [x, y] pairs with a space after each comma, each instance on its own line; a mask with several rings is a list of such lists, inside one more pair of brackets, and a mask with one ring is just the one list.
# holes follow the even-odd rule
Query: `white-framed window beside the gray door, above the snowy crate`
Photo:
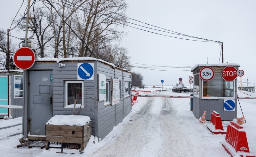
[[74, 107], [76, 99], [76, 107], [84, 107], [84, 81], [66, 81], [65, 82], [65, 107]]

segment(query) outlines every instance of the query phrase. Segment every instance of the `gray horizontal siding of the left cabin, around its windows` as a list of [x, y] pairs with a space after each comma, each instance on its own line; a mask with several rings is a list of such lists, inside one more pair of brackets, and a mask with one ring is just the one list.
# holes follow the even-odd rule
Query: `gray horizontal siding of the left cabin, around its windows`
[[[131, 110], [131, 96], [123, 98], [124, 81], [131, 82], [131, 73], [113, 68], [110, 65], [99, 61], [94, 62], [94, 80], [84, 80], [84, 108], [81, 108], [79, 115], [86, 115], [91, 118], [92, 135], [104, 138], [113, 130], [113, 127], [123, 121]], [[77, 81], [77, 61], [63, 62], [65, 67], [60, 68], [58, 63], [35, 63], [29, 70], [52, 69], [52, 90], [53, 90], [53, 116], [72, 114], [73, 108], [65, 108], [65, 81]], [[42, 71], [43, 72], [43, 71]], [[121, 100], [114, 106], [104, 106], [104, 101], [98, 101], [98, 74], [106, 75], [107, 81], [119, 79], [121, 82]], [[123, 79], [124, 77], [124, 79]], [[77, 114], [76, 108], [75, 114]]]

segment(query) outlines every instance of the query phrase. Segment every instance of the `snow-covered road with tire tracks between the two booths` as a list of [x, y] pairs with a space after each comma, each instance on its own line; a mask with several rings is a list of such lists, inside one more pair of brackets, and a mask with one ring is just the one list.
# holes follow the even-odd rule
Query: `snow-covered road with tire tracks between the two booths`
[[[129, 118], [129, 122], [123, 124], [119, 133], [109, 139], [108, 143], [89, 154], [90, 157], [209, 155], [207, 152], [202, 153], [196, 149], [202, 146], [205, 150], [205, 145], [207, 143], [209, 145], [209, 141], [202, 138], [204, 134], [200, 136], [200, 129], [205, 127], [204, 125], [198, 123], [198, 120], [197, 126], [191, 125], [190, 116], [185, 117], [177, 112], [172, 98], [147, 97], [145, 99], [141, 109]], [[181, 104], [176, 106], [185, 107], [188, 104], [183, 104], [181, 101]], [[194, 140], [198, 134], [200, 137]], [[212, 136], [211, 133], [208, 136]], [[224, 149], [223, 153], [227, 155]]]

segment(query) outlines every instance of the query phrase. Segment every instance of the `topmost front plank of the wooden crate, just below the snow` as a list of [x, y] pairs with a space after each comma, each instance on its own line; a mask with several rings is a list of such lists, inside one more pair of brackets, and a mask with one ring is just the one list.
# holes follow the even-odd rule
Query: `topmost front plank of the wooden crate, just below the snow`
[[82, 131], [83, 126], [78, 125], [52, 125], [52, 124], [45, 124], [45, 130], [62, 130], [62, 131]]

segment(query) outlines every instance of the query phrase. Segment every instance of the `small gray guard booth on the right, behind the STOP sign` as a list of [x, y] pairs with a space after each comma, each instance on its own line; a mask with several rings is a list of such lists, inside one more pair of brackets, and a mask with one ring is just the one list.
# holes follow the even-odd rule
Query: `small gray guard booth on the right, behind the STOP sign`
[[[204, 81], [200, 77], [200, 70], [204, 67], [211, 67], [214, 70], [212, 80]], [[191, 69], [194, 75], [194, 97], [193, 112], [197, 119], [202, 117], [206, 111], [205, 119], [211, 120], [212, 111], [220, 114], [221, 120], [232, 121], [237, 117], [237, 78], [234, 81], [225, 81], [221, 77], [221, 72], [225, 67], [240, 67], [236, 63], [222, 64], [197, 64]], [[227, 110], [226, 102], [233, 105]], [[229, 108], [228, 108], [229, 109]]]

